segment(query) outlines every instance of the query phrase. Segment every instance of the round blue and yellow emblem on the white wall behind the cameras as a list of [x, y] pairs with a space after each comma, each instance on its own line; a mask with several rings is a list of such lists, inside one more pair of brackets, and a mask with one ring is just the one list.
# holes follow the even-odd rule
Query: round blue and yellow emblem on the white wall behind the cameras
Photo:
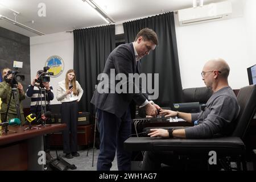
[[49, 67], [48, 72], [52, 72], [51, 77], [55, 78], [61, 75], [64, 70], [64, 61], [60, 56], [53, 55], [46, 61], [46, 67]]

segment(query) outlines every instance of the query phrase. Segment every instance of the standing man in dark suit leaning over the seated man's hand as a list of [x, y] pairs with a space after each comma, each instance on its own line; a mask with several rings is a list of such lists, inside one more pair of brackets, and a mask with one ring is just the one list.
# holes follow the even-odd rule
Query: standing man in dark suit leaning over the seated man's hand
[[[117, 151], [118, 170], [131, 169], [131, 154], [123, 150], [123, 142], [131, 135], [130, 105], [135, 102], [139, 107], [144, 107], [146, 114], [152, 117], [155, 117], [157, 109], [160, 109], [154, 102], [147, 100], [147, 94], [142, 93], [141, 86], [135, 84], [134, 79], [124, 80], [118, 77], [121, 75], [122, 78], [123, 76], [127, 78], [131, 74], [140, 74], [139, 60], [154, 50], [156, 45], [158, 45], [156, 33], [149, 28], [143, 28], [138, 32], [133, 43], [118, 46], [106, 60], [102, 73], [104, 79], [101, 78], [91, 101], [96, 106], [100, 127], [98, 171], [110, 170], [115, 151]], [[129, 91], [118, 92], [115, 89], [117, 85], [122, 85], [120, 87], [122, 91], [128, 88]]]

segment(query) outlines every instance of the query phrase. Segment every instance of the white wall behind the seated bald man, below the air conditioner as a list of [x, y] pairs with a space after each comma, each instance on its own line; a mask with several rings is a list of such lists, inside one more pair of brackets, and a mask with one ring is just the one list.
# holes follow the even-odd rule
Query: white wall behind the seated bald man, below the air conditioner
[[256, 1], [247, 0], [240, 18], [180, 27], [176, 22], [183, 88], [205, 86], [200, 72], [209, 59], [221, 57], [230, 66], [229, 85], [249, 85], [247, 69], [256, 63]]

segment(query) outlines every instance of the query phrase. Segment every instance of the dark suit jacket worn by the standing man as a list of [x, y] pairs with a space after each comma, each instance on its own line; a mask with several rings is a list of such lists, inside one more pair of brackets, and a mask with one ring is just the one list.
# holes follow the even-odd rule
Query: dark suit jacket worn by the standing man
[[[94, 104], [96, 108], [113, 113], [119, 118], [127, 111], [132, 101], [137, 105], [142, 105], [148, 96], [147, 94], [141, 93], [141, 84], [138, 88], [133, 80], [127, 81], [126, 86], [127, 88], [133, 86], [134, 89], [139, 90], [139, 93], [117, 93], [116, 91], [110, 93], [110, 90], [113, 90], [112, 88], [115, 88], [119, 82], [119, 80], [115, 80], [114, 82], [110, 81], [110, 69], [114, 69], [115, 75], [123, 73], [128, 78], [129, 73], [140, 73], [140, 68], [141, 63], [139, 61], [136, 65], [133, 43], [121, 44], [115, 48], [106, 60], [103, 71], [103, 73], [109, 76], [109, 84], [104, 85], [104, 88], [106, 86], [109, 93], [99, 93], [96, 89], [90, 102]], [[100, 81], [98, 87], [101, 86], [102, 81], [103, 80]]]

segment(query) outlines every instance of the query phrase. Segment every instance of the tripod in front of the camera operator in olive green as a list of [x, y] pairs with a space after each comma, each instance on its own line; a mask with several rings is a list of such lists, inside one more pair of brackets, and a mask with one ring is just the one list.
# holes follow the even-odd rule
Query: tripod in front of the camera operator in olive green
[[[17, 117], [18, 117], [19, 120], [20, 120], [19, 98], [18, 98], [17, 86], [16, 86], [16, 84], [15, 84], [15, 85], [12, 85], [12, 86], [11, 86], [11, 94], [10, 94], [9, 102], [8, 102], [7, 109], [6, 109], [4, 122], [7, 122], [7, 117], [8, 117], [8, 112], [9, 112], [9, 109], [10, 109], [10, 103], [11, 103], [11, 97], [12, 97], [12, 96], [13, 96], [13, 99], [15, 100], [16, 114], [17, 114]], [[20, 127], [21, 127], [21, 126], [22, 126], [22, 123], [20, 122]], [[1, 134], [2, 134], [2, 133], [8, 133], [8, 131], [11, 131], [11, 132], [16, 133], [16, 131], [9, 130], [9, 129], [8, 129], [8, 125], [6, 125], [6, 126], [5, 126], [5, 130], [2, 131]]]

